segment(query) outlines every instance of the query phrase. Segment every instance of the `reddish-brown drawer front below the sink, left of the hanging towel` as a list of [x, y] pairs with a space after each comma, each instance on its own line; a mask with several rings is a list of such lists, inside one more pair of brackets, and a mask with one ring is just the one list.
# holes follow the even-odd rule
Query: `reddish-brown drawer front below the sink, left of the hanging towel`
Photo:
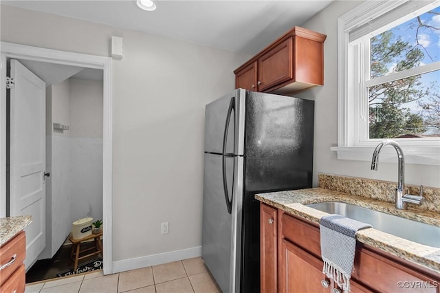
[[321, 243], [319, 228], [290, 215], [283, 214], [283, 237], [320, 259]]

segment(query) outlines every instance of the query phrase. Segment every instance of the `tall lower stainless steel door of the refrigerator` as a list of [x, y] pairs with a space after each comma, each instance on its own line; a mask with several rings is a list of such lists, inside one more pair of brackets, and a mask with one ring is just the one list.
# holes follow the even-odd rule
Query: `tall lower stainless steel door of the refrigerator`
[[225, 203], [223, 156], [205, 153], [204, 160], [201, 255], [222, 292], [239, 292], [243, 158], [225, 158], [232, 213]]

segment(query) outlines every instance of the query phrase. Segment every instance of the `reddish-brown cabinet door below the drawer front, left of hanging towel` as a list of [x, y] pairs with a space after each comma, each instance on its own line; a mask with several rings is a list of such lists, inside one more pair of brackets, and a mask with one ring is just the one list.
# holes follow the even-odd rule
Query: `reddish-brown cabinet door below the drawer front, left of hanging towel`
[[[281, 244], [281, 283], [280, 292], [318, 293], [331, 292], [331, 282], [322, 274], [320, 259], [285, 241]], [[326, 281], [328, 287], [322, 285]]]

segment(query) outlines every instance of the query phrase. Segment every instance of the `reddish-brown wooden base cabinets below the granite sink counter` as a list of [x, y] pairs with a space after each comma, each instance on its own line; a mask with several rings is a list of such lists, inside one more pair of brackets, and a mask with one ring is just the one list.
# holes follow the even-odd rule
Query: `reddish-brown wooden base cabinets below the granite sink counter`
[[[261, 203], [260, 227], [261, 292], [342, 292], [322, 273], [318, 225]], [[353, 293], [439, 293], [440, 274], [358, 243], [350, 287]]]

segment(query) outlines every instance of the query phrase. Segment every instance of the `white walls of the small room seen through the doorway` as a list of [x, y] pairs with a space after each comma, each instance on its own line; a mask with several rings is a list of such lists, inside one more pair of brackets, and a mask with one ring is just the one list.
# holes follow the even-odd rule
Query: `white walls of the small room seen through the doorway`
[[[46, 91], [46, 248], [63, 245], [72, 222], [102, 219], [102, 81], [69, 78]], [[54, 131], [52, 123], [69, 126]]]

